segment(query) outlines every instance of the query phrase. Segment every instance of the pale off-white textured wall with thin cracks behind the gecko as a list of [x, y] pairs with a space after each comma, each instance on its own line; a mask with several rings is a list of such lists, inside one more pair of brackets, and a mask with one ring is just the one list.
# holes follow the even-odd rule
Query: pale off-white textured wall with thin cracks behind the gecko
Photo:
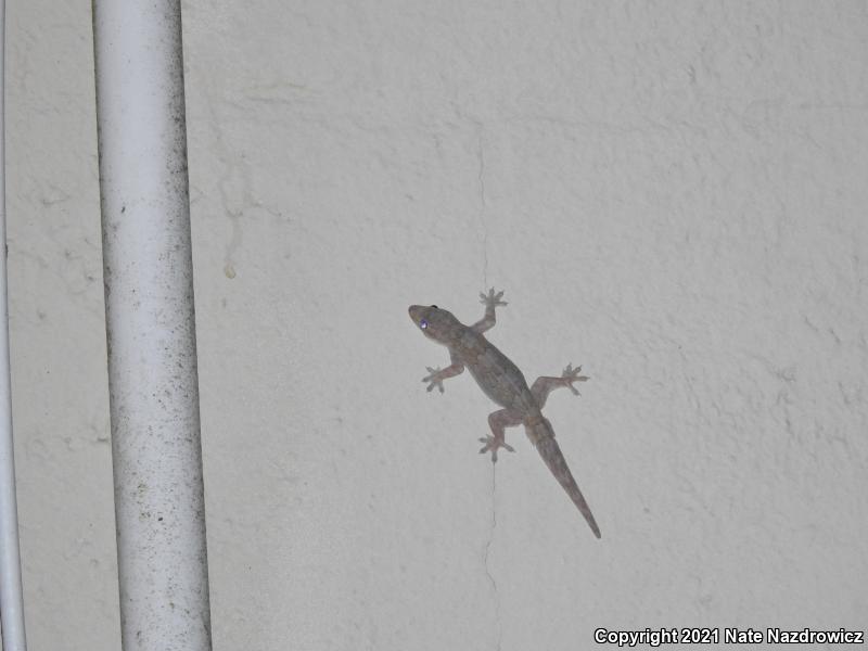
[[[864, 2], [186, 2], [216, 649], [868, 628]], [[90, 4], [11, 2], [31, 648], [119, 644]], [[481, 315], [521, 429], [407, 317]]]

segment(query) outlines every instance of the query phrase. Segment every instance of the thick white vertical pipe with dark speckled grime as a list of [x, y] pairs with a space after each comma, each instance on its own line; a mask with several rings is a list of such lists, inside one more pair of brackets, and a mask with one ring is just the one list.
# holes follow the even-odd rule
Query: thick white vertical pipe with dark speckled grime
[[210, 649], [180, 0], [94, 0], [126, 650]]

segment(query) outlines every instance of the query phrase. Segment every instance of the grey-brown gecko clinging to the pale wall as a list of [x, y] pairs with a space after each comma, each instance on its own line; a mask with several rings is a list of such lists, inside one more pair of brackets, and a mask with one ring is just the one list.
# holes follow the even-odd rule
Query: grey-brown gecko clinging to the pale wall
[[485, 305], [485, 316], [473, 326], [464, 326], [450, 311], [436, 305], [410, 306], [410, 319], [427, 339], [448, 348], [451, 362], [445, 369], [426, 367], [429, 375], [423, 378], [422, 382], [427, 382], [429, 392], [437, 388], [443, 393], [444, 380], [459, 375], [468, 369], [483, 393], [502, 408], [488, 414], [488, 425], [493, 435], [480, 438], [485, 444], [480, 454], [490, 452], [492, 462], [496, 463], [498, 449], [503, 448], [514, 452], [514, 448], [506, 442], [505, 430], [524, 425], [527, 438], [536, 447], [551, 474], [566, 490], [570, 499], [578, 507], [593, 535], [599, 538], [600, 527], [597, 526], [588, 502], [585, 501], [573, 473], [570, 472], [570, 467], [554, 439], [551, 423], [541, 411], [552, 391], [565, 386], [573, 394], [579, 395], [573, 384], [587, 382], [589, 378], [579, 375], [582, 367], [574, 369], [571, 362], [560, 378], [537, 378], [528, 388], [527, 381], [519, 367], [484, 336], [484, 333], [496, 323], [495, 309], [507, 305], [501, 301], [503, 292], [495, 293], [492, 288], [488, 294], [481, 293], [480, 297], [481, 303]]

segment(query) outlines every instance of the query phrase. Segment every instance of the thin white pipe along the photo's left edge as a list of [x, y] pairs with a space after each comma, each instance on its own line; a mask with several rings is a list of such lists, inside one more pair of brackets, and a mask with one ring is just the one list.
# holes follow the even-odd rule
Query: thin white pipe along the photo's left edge
[[25, 651], [24, 599], [21, 588], [18, 509], [15, 499], [15, 449], [12, 443], [12, 382], [9, 367], [9, 303], [7, 295], [5, 188], [5, 2], [0, 0], [0, 621], [3, 650]]

